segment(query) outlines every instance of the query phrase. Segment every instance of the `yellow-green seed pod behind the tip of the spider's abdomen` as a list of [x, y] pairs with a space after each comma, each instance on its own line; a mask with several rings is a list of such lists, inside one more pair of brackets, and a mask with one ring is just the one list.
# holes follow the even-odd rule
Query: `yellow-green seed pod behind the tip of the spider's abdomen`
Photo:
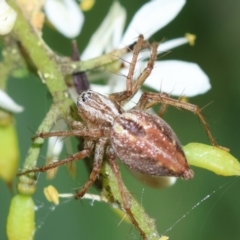
[[189, 143], [183, 147], [188, 163], [205, 168], [218, 175], [240, 175], [240, 163], [229, 152], [201, 143]]

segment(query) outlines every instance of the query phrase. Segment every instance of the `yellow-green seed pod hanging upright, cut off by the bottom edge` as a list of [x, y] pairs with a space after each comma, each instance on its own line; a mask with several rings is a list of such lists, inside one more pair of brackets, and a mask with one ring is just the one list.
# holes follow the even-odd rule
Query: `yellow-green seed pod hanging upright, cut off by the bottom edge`
[[18, 194], [13, 197], [7, 219], [9, 240], [31, 240], [34, 236], [34, 202], [31, 196]]

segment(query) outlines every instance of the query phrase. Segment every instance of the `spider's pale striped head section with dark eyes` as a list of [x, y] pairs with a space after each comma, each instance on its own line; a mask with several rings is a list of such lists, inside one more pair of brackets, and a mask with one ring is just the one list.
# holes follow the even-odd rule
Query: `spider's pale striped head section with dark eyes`
[[123, 112], [121, 106], [108, 97], [87, 90], [77, 99], [78, 113], [87, 123], [112, 126], [116, 116]]

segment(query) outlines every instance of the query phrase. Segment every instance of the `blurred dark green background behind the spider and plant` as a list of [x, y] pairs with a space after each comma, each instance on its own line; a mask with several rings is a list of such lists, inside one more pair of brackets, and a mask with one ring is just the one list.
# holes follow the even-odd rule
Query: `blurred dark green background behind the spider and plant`
[[[99, 26], [112, 1], [97, 1], [94, 8], [85, 14], [86, 21], [77, 41], [83, 50], [91, 34]], [[128, 13], [128, 22], [136, 10], [146, 1], [120, 1]], [[173, 39], [186, 32], [197, 35], [195, 47], [184, 45], [174, 49], [164, 59], [179, 59], [198, 63], [209, 76], [212, 89], [205, 95], [190, 101], [204, 109], [210, 128], [222, 146], [240, 158], [240, 1], [202, 0], [188, 1], [180, 14], [164, 29], [155, 34], [153, 40]], [[151, 16], [146, 16], [146, 18]], [[57, 32], [45, 27], [44, 39], [53, 50], [70, 55], [71, 45]], [[21, 164], [26, 157], [33, 131], [48, 111], [51, 98], [45, 86], [35, 76], [27, 79], [11, 79], [8, 92], [25, 111], [16, 115]], [[196, 116], [186, 111], [169, 108], [164, 117], [173, 127], [183, 145], [189, 142], [209, 144], [202, 125]], [[74, 142], [74, 140], [73, 140]], [[39, 165], [44, 163], [46, 146]], [[66, 156], [63, 154], [62, 157]], [[22, 166], [22, 165], [20, 165]], [[124, 167], [125, 184], [142, 203], [146, 212], [156, 219], [159, 233], [171, 240], [218, 239], [237, 240], [240, 236], [240, 180], [224, 178], [205, 170], [194, 168], [195, 177], [190, 181], [179, 180], [163, 190], [143, 186]], [[59, 169], [57, 177], [49, 182], [45, 174], [39, 175], [38, 189], [34, 201], [36, 211], [35, 239], [140, 239], [134, 227], [121, 222], [112, 209], [104, 203], [88, 200], [62, 201], [52, 208], [43, 196], [43, 187], [53, 184], [61, 193], [74, 192], [86, 181], [88, 173], [82, 162], [78, 163], [78, 175], [72, 179], [66, 168]], [[5, 239], [5, 224], [12, 193], [1, 181], [0, 239]], [[92, 193], [96, 191], [92, 188]], [[208, 195], [206, 201], [202, 201]], [[196, 208], [191, 210], [196, 204]], [[175, 223], [181, 219], [176, 225]], [[167, 231], [171, 228], [169, 231]], [[167, 231], [167, 232], [166, 232]]]

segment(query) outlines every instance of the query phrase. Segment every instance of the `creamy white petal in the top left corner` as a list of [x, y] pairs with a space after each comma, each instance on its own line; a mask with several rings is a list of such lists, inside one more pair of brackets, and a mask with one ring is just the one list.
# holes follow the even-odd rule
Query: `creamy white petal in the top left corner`
[[0, 0], [0, 35], [8, 34], [15, 23], [17, 13], [5, 2]]

